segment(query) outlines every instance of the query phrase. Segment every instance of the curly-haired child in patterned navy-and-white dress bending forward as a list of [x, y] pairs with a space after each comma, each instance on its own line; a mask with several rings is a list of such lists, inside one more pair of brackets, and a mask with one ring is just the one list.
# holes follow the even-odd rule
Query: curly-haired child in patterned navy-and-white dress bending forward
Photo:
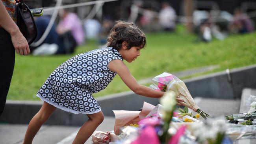
[[139, 85], [123, 62], [123, 59], [128, 63], [137, 59], [146, 44], [145, 34], [134, 23], [117, 21], [107, 41], [107, 48], [71, 57], [52, 72], [37, 92], [44, 103], [28, 125], [24, 144], [32, 143], [37, 131], [56, 108], [87, 114], [89, 120], [73, 141], [73, 144], [85, 143], [104, 119], [92, 93], [105, 89], [116, 74], [136, 94], [152, 98], [160, 98], [164, 94]]

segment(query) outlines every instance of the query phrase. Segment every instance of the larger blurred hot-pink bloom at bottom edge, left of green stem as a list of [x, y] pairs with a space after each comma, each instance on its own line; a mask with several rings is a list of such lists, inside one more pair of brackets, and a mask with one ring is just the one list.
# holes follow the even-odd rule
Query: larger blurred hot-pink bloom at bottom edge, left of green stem
[[156, 130], [152, 126], [142, 129], [141, 134], [131, 144], [160, 144]]

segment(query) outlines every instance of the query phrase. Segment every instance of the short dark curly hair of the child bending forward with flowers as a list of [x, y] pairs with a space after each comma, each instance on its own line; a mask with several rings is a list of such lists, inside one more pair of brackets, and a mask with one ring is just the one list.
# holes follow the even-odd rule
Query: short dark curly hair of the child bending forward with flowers
[[146, 36], [133, 22], [118, 20], [115, 26], [110, 30], [107, 46], [119, 50], [124, 41], [128, 43], [128, 49], [133, 46], [144, 48], [146, 45]]

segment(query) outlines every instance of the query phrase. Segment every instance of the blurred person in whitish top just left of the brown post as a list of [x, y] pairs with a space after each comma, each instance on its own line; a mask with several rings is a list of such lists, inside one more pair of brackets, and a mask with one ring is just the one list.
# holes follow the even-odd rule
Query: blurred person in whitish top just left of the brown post
[[165, 31], [174, 31], [176, 24], [176, 12], [168, 2], [161, 4], [161, 10], [159, 13], [159, 24]]

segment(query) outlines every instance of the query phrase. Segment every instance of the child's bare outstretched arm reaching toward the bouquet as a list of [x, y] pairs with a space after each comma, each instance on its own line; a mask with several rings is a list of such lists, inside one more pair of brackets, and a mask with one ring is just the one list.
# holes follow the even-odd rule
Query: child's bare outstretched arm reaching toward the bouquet
[[[164, 92], [151, 89], [144, 85], [139, 85], [136, 79], [130, 73], [128, 67], [119, 59], [110, 61], [108, 68], [109, 70], [116, 72], [121, 77], [122, 81], [124, 81], [124, 83], [136, 94], [150, 98], [160, 98], [164, 94]], [[176, 98], [176, 100], [178, 105], [181, 105], [179, 101], [184, 102], [184, 100], [180, 98]]]

